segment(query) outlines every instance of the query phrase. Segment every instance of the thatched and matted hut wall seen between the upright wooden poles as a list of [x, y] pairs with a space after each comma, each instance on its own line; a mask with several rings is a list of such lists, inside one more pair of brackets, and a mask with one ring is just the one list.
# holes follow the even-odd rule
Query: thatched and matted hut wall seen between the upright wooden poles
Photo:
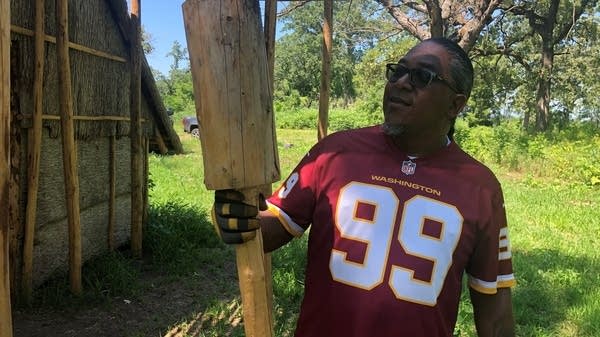
[[[125, 0], [122, 1], [126, 8]], [[98, 50], [122, 60], [114, 60], [86, 52], [70, 51], [73, 87], [73, 108], [76, 117], [75, 137], [78, 154], [80, 187], [80, 221], [82, 257], [89, 258], [108, 250], [110, 140], [116, 139], [116, 188], [114, 242], [124, 244], [130, 236], [131, 176], [130, 176], [130, 65], [128, 45], [116, 22], [117, 0], [70, 0], [70, 41]], [[46, 35], [55, 36], [55, 2], [46, 1]], [[122, 8], [122, 9], [123, 9]], [[34, 1], [11, 0], [11, 24], [33, 31]], [[28, 128], [33, 115], [34, 38], [13, 32], [13, 118], [20, 120], [21, 137], [12, 139], [20, 144], [22, 162], [19, 167], [20, 213], [27, 201]], [[62, 140], [58, 105], [56, 45], [46, 42], [43, 91], [43, 137], [40, 160], [40, 186], [34, 239], [33, 284], [38, 286], [55, 273], [68, 270], [68, 221], [65, 209], [65, 188]], [[142, 97], [142, 134], [154, 132], [152, 106]], [[77, 117], [83, 120], [77, 120]], [[95, 118], [95, 119], [94, 119]], [[94, 120], [89, 120], [94, 119]], [[100, 120], [101, 119], [101, 120]], [[147, 155], [147, 154], [144, 154]], [[24, 221], [25, 217], [20, 219]], [[23, 228], [23, 225], [16, 226]], [[23, 233], [17, 233], [22, 238]], [[19, 243], [19, 244], [22, 244]], [[20, 252], [20, 247], [14, 250]], [[20, 255], [20, 254], [19, 254]], [[20, 271], [20, 256], [13, 257]]]

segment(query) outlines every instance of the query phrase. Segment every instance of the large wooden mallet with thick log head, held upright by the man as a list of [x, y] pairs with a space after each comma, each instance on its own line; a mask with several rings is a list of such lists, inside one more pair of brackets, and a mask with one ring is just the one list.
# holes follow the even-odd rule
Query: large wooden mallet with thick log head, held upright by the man
[[[196, 114], [210, 190], [236, 189], [247, 203], [279, 180], [279, 158], [258, 0], [183, 4]], [[273, 336], [262, 236], [236, 245], [247, 337]], [[270, 277], [270, 275], [269, 275]]]

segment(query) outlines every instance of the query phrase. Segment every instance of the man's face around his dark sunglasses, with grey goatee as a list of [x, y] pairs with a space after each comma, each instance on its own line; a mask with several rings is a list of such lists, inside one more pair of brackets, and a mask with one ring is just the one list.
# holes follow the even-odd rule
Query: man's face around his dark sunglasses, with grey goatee
[[[398, 63], [409, 69], [424, 68], [449, 80], [449, 61], [450, 55], [446, 49], [434, 42], [423, 42], [411, 49]], [[438, 80], [418, 88], [411, 84], [409, 77], [406, 74], [394, 83], [388, 81], [385, 86], [383, 113], [386, 129], [392, 130], [390, 134], [445, 134], [453, 114], [458, 113], [454, 111], [455, 107], [453, 109], [456, 93]]]

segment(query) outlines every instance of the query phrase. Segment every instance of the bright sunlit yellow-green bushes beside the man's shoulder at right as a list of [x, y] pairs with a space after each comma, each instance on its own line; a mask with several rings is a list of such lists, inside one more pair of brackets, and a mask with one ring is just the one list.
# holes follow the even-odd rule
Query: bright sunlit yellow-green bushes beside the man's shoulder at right
[[481, 161], [536, 179], [600, 186], [600, 129], [589, 123], [529, 135], [515, 121], [468, 128], [459, 120], [455, 139]]

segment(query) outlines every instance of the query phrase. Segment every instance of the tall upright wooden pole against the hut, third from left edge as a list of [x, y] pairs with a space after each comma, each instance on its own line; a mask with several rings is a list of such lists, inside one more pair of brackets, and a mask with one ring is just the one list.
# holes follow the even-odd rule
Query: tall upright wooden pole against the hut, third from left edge
[[65, 195], [69, 222], [69, 279], [71, 292], [79, 295], [81, 294], [81, 223], [79, 218], [77, 149], [75, 144], [75, 128], [73, 126], [68, 13], [68, 0], [57, 0], [56, 54], [58, 61], [58, 96], [61, 113]]

